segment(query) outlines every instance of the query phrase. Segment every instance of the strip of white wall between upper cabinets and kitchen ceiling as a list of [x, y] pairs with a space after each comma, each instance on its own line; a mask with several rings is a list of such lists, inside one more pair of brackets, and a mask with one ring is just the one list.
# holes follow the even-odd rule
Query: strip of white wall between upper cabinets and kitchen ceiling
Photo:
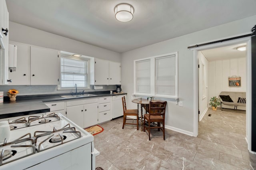
[[15, 22], [9, 22], [9, 40], [121, 62], [121, 54], [118, 52], [78, 42]]

